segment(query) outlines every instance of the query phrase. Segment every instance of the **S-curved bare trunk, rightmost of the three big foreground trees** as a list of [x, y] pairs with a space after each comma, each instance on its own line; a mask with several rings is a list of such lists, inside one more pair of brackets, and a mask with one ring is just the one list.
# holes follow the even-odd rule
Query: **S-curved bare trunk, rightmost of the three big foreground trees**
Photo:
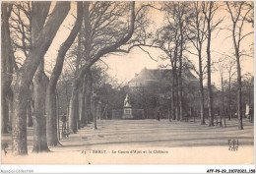
[[56, 86], [61, 75], [63, 68], [63, 62], [66, 52], [74, 42], [79, 30], [81, 29], [83, 22], [83, 2], [77, 3], [77, 20], [74, 28], [71, 30], [67, 39], [62, 43], [58, 55], [56, 64], [52, 70], [49, 85], [46, 92], [46, 115], [47, 115], [47, 143], [48, 145], [58, 145], [57, 137], [57, 122], [56, 122]]

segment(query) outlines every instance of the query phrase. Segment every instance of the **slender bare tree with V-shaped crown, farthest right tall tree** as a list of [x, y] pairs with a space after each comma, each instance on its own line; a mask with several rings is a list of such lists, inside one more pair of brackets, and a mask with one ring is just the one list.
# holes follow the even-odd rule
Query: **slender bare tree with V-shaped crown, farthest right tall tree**
[[[248, 6], [247, 4], [251, 4]], [[241, 41], [244, 40], [245, 37], [254, 33], [253, 31], [244, 33], [244, 24], [247, 20], [247, 17], [251, 11], [253, 11], [253, 3], [252, 2], [225, 2], [226, 11], [228, 12], [231, 22], [232, 28], [230, 29], [233, 47], [234, 47], [234, 55], [236, 58], [236, 70], [237, 70], [237, 115], [238, 115], [238, 129], [243, 129], [242, 124], [242, 82], [241, 82], [241, 65], [240, 58], [242, 56], [241, 52]]]

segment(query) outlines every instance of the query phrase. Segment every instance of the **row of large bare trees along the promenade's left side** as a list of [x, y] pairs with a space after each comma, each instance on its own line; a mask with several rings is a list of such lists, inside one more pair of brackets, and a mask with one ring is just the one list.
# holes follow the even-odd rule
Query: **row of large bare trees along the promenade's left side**
[[[77, 38], [75, 51], [75, 72], [72, 93], [69, 99], [69, 129], [76, 133], [79, 123], [79, 90], [81, 88], [81, 121], [92, 120], [91, 96], [94, 95], [92, 67], [104, 55], [115, 52], [122, 45], [136, 37], [141, 29], [146, 9], [135, 7], [135, 2], [78, 2], [75, 24], [68, 37], [61, 44], [50, 78], [44, 73], [44, 55], [53, 42], [60, 26], [71, 9], [70, 2], [19, 2], [2, 5], [2, 69], [4, 76], [2, 93], [11, 96], [13, 90], [14, 111], [12, 113], [13, 153], [28, 153], [27, 108], [32, 93], [33, 151], [48, 151], [48, 145], [58, 145], [56, 122], [56, 86], [60, 78], [67, 51]], [[54, 7], [51, 10], [51, 7]], [[73, 6], [74, 7], [74, 6]], [[78, 35], [78, 36], [77, 36]], [[133, 37], [133, 35], [135, 35]], [[21, 57], [17, 55], [21, 55]], [[9, 61], [9, 62], [8, 62]], [[15, 69], [14, 73], [10, 73]], [[13, 80], [13, 78], [15, 78]], [[14, 87], [11, 82], [14, 82]], [[9, 83], [10, 82], [10, 83]], [[2, 97], [2, 130], [7, 132], [8, 107]], [[13, 101], [13, 102], [12, 102]], [[87, 112], [83, 109], [87, 107]], [[11, 110], [11, 109], [10, 109]], [[87, 114], [87, 116], [85, 115]], [[46, 117], [45, 117], [46, 116]]]

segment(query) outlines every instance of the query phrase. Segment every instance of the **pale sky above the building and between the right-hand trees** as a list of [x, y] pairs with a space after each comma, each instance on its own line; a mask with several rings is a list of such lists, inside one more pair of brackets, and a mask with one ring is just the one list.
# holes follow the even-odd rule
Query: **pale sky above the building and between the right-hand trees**
[[[227, 29], [224, 29], [226, 27], [230, 28], [229, 15], [224, 11], [224, 9], [222, 9], [219, 11], [219, 13], [217, 13], [215, 19], [218, 20], [223, 18], [224, 16], [226, 17], [224, 18], [224, 22], [220, 25], [220, 29], [216, 29], [216, 31], [213, 32], [212, 45], [211, 45], [212, 62], [216, 62], [216, 61], [219, 61], [220, 58], [224, 58], [224, 54], [227, 54], [227, 55], [233, 54], [233, 42], [232, 42], [232, 38], [230, 37], [231, 32]], [[156, 27], [159, 28], [161, 25], [164, 25], [163, 15], [156, 10], [151, 11], [150, 19], [154, 23], [153, 28], [156, 28]], [[247, 25], [245, 26], [244, 30], [247, 33], [253, 29], [251, 28], [251, 25]], [[247, 49], [248, 45], [252, 43], [253, 39], [254, 39], [253, 34], [251, 34], [246, 39], [244, 39], [242, 42], [242, 45], [244, 45], [242, 49]], [[204, 45], [206, 47], [206, 41]], [[122, 55], [122, 56], [109, 55], [107, 57], [102, 58], [102, 60], [109, 65], [109, 70], [108, 70], [109, 74], [111, 74], [112, 76], [116, 76], [120, 82], [123, 82], [123, 81], [129, 82], [132, 78], [134, 78], [135, 74], [140, 73], [140, 71], [144, 67], [148, 69], [157, 69], [160, 67], [160, 65], [169, 64], [168, 61], [160, 60], [160, 55], [162, 54], [164, 55], [164, 53], [162, 53], [160, 50], [156, 48], [149, 48], [147, 50], [150, 52], [151, 56], [158, 61], [152, 60], [147, 53], [140, 50], [139, 48], [134, 49], [130, 54], [127, 54], [127, 55]], [[193, 48], [191, 48], [190, 51], [195, 52]], [[185, 55], [195, 63], [196, 67], [198, 67], [198, 58], [196, 56], [191, 55], [186, 51], [185, 51]], [[206, 59], [205, 49], [203, 50], [203, 56]], [[227, 58], [224, 58], [224, 61], [228, 62], [228, 60], [226, 59]], [[215, 65], [215, 68], [218, 68], [218, 64]], [[245, 74], [245, 73], [253, 74], [254, 73], [253, 58], [248, 58], [248, 57], [242, 58], [241, 69], [242, 69], [242, 74]], [[196, 76], [194, 72], [192, 73]], [[226, 78], [227, 76], [224, 76], [224, 79]], [[221, 78], [218, 70], [212, 73], [212, 82], [217, 87], [220, 87]], [[207, 80], [204, 81], [204, 84], [206, 83], [207, 83]]]

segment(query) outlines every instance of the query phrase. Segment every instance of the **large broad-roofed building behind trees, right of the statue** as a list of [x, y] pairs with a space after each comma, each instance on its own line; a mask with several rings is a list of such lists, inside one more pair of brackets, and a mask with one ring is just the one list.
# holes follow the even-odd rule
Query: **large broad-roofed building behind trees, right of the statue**
[[[192, 95], [189, 92], [198, 92], [195, 88], [198, 88], [199, 81], [189, 70], [185, 69], [182, 71], [182, 80], [183, 104], [184, 108], [188, 109], [192, 107], [190, 104], [192, 99], [189, 99]], [[145, 118], [155, 118], [154, 111], [158, 106], [162, 117], [167, 117], [172, 91], [172, 70], [144, 68], [128, 83], [128, 87], [132, 106], [144, 109]], [[195, 94], [195, 97], [198, 96]]]

